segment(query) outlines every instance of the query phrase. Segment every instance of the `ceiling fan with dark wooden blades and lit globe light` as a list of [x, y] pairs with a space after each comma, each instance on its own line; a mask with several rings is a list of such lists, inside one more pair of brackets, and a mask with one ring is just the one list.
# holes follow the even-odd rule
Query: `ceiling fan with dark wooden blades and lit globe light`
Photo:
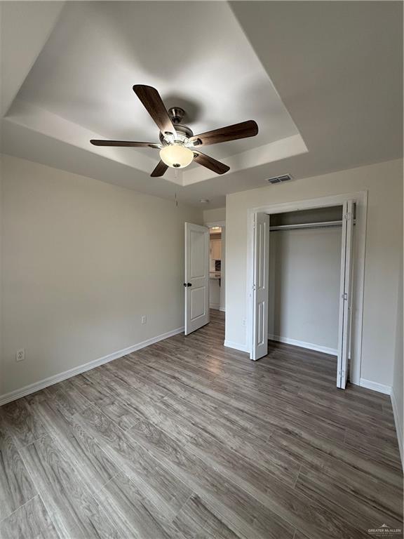
[[132, 142], [130, 140], [90, 140], [95, 146], [127, 146], [138, 148], [155, 148], [160, 150], [160, 161], [152, 172], [154, 178], [162, 176], [167, 168], [184, 168], [196, 161], [217, 174], [224, 174], [230, 167], [220, 163], [199, 151], [202, 146], [227, 142], [238, 138], [254, 137], [258, 126], [254, 120], [242, 121], [240, 124], [214, 129], [200, 135], [194, 135], [188, 126], [181, 124], [184, 109], [172, 107], [168, 111], [156, 88], [135, 84], [133, 91], [144, 105], [147, 112], [160, 129], [160, 143]]

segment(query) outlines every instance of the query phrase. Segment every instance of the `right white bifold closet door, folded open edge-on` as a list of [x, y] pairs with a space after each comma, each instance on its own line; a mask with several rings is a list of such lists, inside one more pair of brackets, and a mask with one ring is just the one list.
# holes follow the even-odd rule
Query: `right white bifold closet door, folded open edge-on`
[[344, 390], [348, 380], [351, 343], [352, 244], [354, 239], [354, 203], [344, 202], [342, 212], [341, 281], [339, 295], [337, 387]]

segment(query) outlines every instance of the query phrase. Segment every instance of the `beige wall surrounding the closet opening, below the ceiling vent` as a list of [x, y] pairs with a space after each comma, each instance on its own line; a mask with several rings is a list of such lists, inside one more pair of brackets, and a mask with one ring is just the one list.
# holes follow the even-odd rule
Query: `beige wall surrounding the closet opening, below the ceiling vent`
[[244, 346], [248, 208], [368, 190], [361, 378], [391, 386], [396, 347], [403, 161], [353, 168], [229, 194], [226, 203], [226, 340]]

